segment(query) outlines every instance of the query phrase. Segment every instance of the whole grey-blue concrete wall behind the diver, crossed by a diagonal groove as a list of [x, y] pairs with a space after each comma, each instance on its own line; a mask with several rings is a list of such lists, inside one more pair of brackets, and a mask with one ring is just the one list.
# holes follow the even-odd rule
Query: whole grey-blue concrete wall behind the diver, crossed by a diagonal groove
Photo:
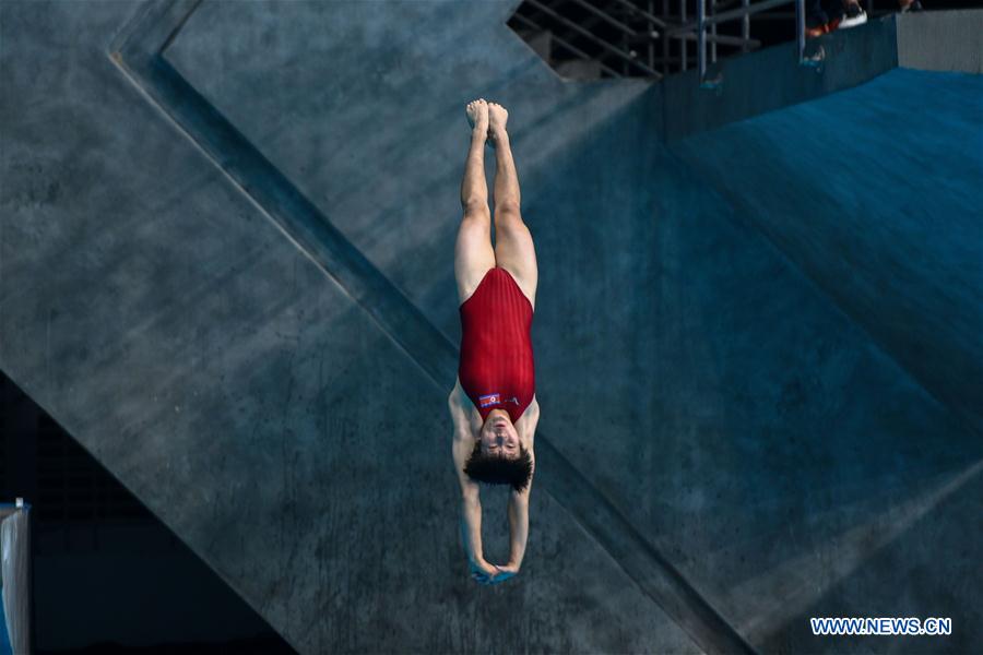
[[[808, 633], [851, 612], [951, 616], [925, 652], [983, 638], [979, 436], [744, 196], [662, 143], [663, 86], [564, 83], [508, 4], [204, 2], [165, 55], [239, 131], [229, 154], [109, 59], [152, 5], [78, 7], [0, 5], [0, 367], [298, 651], [719, 648], [725, 631], [660, 595], [667, 571], [761, 652], [904, 651]], [[457, 533], [453, 371], [371, 300], [460, 338], [475, 96], [512, 112], [556, 463], [523, 571], [494, 588], [467, 579]], [[300, 201], [257, 200], [282, 184], [242, 184], [253, 151], [304, 221]], [[342, 250], [285, 234], [318, 215]], [[505, 553], [504, 497], [485, 497]], [[599, 497], [628, 527], [599, 527]]]

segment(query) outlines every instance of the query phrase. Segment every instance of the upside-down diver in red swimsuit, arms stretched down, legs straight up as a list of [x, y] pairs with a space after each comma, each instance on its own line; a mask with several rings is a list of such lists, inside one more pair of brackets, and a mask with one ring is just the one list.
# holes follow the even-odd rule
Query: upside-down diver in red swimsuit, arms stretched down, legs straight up
[[[506, 131], [509, 114], [484, 98], [469, 103], [465, 112], [471, 147], [461, 182], [464, 217], [454, 245], [461, 361], [448, 407], [472, 576], [495, 584], [519, 572], [529, 536], [533, 437], [540, 420], [531, 340], [538, 271], [532, 235], [519, 212], [519, 178]], [[494, 248], [486, 144], [496, 159]], [[509, 485], [510, 552], [502, 565], [488, 562], [482, 551], [479, 483]]]

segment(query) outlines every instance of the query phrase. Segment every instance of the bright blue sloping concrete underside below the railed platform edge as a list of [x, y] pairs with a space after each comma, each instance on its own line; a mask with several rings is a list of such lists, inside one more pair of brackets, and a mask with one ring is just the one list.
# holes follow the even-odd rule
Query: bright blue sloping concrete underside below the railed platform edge
[[983, 429], [983, 78], [898, 69], [674, 150]]

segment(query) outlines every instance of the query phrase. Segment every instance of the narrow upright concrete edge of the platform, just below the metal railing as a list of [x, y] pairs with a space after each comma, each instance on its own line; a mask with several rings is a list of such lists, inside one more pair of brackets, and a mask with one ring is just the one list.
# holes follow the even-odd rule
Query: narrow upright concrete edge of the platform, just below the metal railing
[[[983, 72], [983, 11], [888, 13], [850, 29], [794, 39], [664, 79], [663, 135], [676, 141], [852, 88], [897, 67]], [[692, 63], [696, 67], [696, 63]]]

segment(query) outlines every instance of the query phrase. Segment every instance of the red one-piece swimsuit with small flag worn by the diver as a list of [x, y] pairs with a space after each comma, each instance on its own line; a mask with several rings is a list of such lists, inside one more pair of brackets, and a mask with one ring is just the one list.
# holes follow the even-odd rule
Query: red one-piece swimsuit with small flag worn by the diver
[[501, 408], [514, 424], [532, 402], [533, 308], [505, 269], [485, 273], [461, 311], [461, 388], [484, 421]]

